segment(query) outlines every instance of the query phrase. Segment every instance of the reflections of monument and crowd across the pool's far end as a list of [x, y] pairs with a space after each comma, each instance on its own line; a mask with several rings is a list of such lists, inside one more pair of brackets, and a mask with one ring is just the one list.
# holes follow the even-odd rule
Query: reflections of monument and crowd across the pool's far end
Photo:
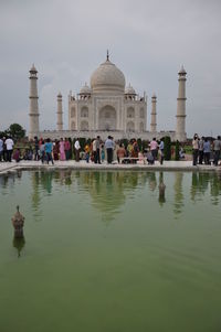
[[[25, 173], [25, 175], [23, 175]], [[171, 205], [175, 215], [183, 211], [187, 201], [193, 203], [207, 199], [211, 204], [220, 204], [221, 173], [220, 172], [135, 172], [135, 171], [34, 171], [13, 172], [0, 176], [0, 194], [13, 192], [17, 182], [24, 176], [25, 185], [31, 180], [31, 205], [34, 218], [42, 217], [42, 200], [44, 196], [70, 193], [81, 195], [83, 203], [92, 204], [102, 213], [103, 219], [112, 219], [120, 212], [128, 200], [147, 195], [155, 200], [158, 206]], [[23, 179], [22, 179], [23, 180]], [[23, 182], [22, 182], [23, 183]], [[159, 192], [159, 185], [166, 185], [166, 194]], [[28, 188], [29, 185], [27, 185]], [[150, 194], [150, 195], [149, 195]], [[167, 195], [167, 200], [166, 200]], [[61, 204], [62, 204], [61, 200]]]

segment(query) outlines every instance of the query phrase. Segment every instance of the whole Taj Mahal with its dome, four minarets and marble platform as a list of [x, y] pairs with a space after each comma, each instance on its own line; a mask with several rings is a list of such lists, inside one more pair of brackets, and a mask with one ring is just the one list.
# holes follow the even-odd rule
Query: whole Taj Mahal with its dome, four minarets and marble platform
[[61, 137], [93, 138], [97, 135], [105, 139], [108, 135], [114, 139], [141, 138], [152, 139], [169, 136], [171, 140], [185, 141], [186, 135], [186, 71], [183, 66], [178, 73], [178, 98], [176, 130], [157, 130], [157, 96], [151, 96], [150, 128], [147, 129], [146, 93], [139, 96], [133, 86], [126, 85], [123, 72], [110, 62], [107, 52], [106, 61], [91, 76], [90, 86], [85, 84], [78, 94], [69, 95], [69, 129], [63, 128], [62, 94], [57, 95], [56, 130], [40, 130], [38, 71], [34, 65], [30, 69], [30, 131], [34, 136], [60, 139]]

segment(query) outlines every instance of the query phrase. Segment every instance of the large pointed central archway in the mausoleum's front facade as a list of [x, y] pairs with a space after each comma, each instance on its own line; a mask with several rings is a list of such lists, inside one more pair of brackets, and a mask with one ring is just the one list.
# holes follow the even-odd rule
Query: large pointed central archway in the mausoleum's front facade
[[116, 130], [117, 129], [117, 113], [113, 106], [106, 105], [99, 110], [98, 115], [99, 130]]

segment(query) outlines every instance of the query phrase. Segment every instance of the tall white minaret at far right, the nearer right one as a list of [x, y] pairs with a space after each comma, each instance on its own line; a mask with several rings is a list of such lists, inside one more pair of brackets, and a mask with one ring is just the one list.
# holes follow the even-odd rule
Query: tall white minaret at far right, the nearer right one
[[177, 128], [176, 128], [176, 139], [178, 141], [185, 141], [187, 139], [186, 133], [186, 71], [183, 66], [178, 73], [179, 88], [177, 98]]

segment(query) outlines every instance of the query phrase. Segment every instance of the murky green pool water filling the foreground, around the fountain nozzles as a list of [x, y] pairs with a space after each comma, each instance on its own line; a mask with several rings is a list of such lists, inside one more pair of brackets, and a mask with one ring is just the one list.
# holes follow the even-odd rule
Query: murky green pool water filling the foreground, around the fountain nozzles
[[0, 332], [221, 331], [220, 214], [219, 173], [0, 176]]

